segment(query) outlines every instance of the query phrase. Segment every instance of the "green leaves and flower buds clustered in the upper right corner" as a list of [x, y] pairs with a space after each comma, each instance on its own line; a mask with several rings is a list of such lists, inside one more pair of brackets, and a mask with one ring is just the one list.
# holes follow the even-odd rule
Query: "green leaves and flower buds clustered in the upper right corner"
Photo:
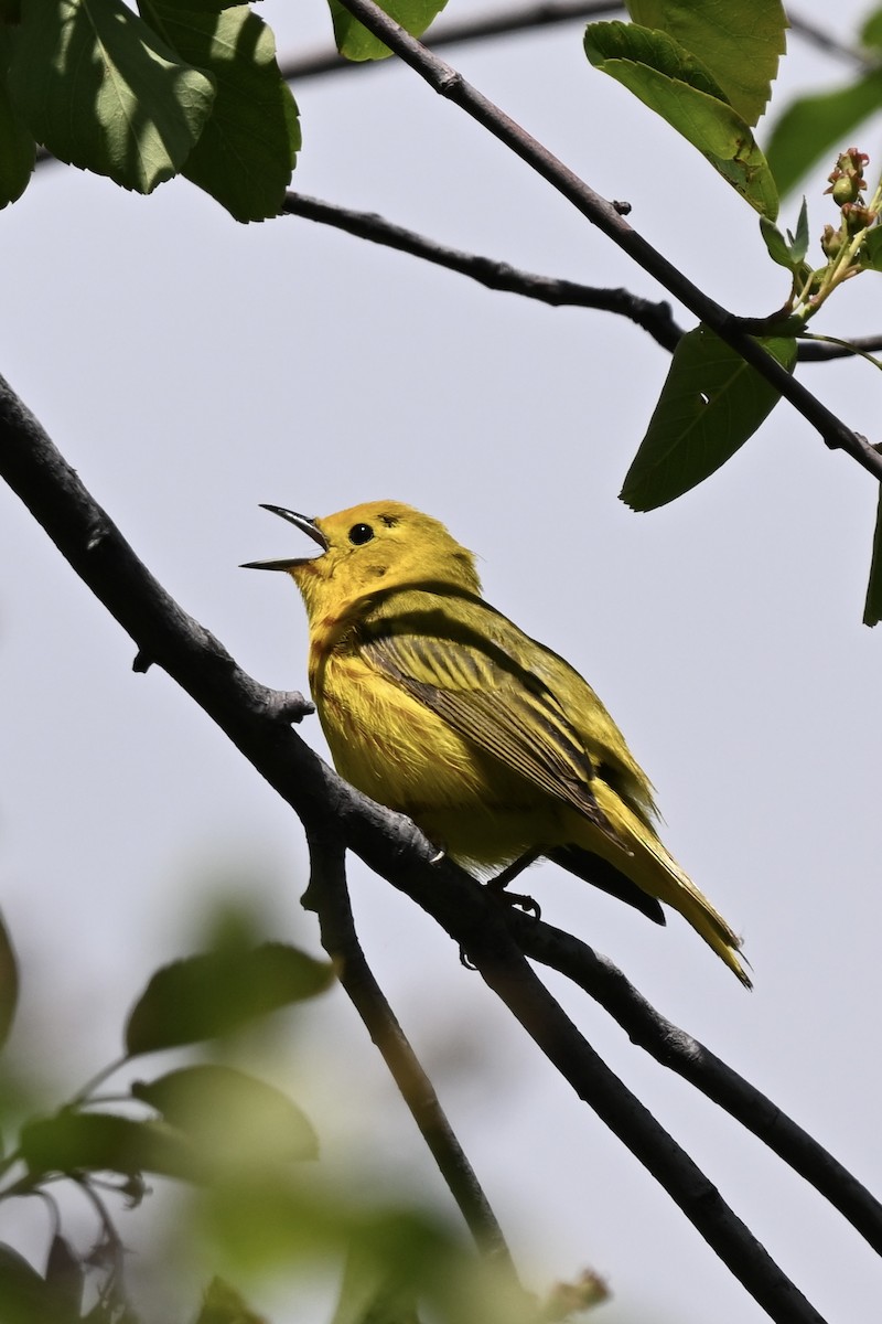
[[[784, 53], [787, 19], [774, 0], [722, 7], [715, 0], [629, 0], [632, 23], [590, 24], [590, 62], [628, 87], [686, 138], [759, 212], [772, 262], [791, 275], [791, 291], [771, 315], [752, 319], [756, 342], [792, 372], [797, 340], [829, 295], [861, 271], [882, 270], [882, 185], [869, 201], [857, 148], [838, 148], [829, 176], [840, 226], [825, 225], [824, 261], [813, 267], [805, 199], [795, 232], [775, 225], [780, 197], [822, 152], [878, 106], [882, 77], [882, 11], [866, 20], [861, 42], [866, 70], [833, 94], [807, 97], [784, 113], [768, 154], [754, 138]], [[733, 328], [738, 330], [737, 319]], [[750, 326], [748, 320], [744, 327]], [[780, 399], [737, 344], [700, 324], [677, 346], [647, 433], [628, 469], [621, 499], [649, 511], [684, 495], [715, 473], [756, 432]], [[882, 510], [882, 507], [881, 507]], [[879, 516], [882, 520], [882, 515]], [[882, 618], [882, 524], [877, 520], [865, 622]]]

